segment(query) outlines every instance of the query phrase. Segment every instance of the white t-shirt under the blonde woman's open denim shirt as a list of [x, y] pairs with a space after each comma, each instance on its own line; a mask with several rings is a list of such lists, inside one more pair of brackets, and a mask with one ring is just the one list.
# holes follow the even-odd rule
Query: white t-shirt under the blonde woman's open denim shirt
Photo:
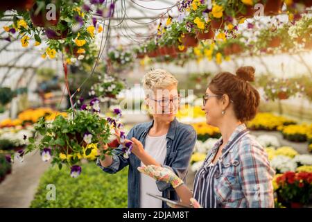
[[[145, 151], [152, 156], [159, 164], [164, 164], [167, 153], [166, 135], [160, 137], [150, 137], [146, 135]], [[141, 166], [144, 166], [141, 162]], [[162, 200], [148, 196], [146, 193], [162, 196], [158, 190], [156, 180], [140, 173], [140, 207], [141, 208], [162, 208]]]

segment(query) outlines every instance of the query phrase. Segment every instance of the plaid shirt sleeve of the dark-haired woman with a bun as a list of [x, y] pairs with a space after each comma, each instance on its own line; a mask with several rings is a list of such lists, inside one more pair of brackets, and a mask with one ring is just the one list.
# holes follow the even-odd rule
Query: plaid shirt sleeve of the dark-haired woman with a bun
[[268, 156], [259, 144], [247, 142], [239, 150], [240, 180], [248, 207], [274, 207], [272, 178]]

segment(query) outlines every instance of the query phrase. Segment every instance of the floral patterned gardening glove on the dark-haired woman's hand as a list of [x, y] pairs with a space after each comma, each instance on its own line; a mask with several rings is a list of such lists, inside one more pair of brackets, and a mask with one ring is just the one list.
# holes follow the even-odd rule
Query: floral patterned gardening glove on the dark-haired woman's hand
[[138, 167], [138, 171], [154, 178], [155, 180], [170, 182], [172, 187], [179, 187], [183, 184], [181, 180], [173, 171], [164, 167], [157, 167], [155, 165], [148, 165], [147, 167]]

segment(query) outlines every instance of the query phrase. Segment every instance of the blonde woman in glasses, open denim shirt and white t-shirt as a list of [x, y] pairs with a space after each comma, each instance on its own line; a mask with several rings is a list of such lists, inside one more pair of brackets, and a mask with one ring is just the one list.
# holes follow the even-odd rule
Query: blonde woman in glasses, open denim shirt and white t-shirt
[[[192, 126], [180, 123], [175, 118], [180, 95], [177, 79], [168, 71], [155, 69], [143, 79], [146, 103], [153, 114], [153, 121], [139, 123], [128, 133], [125, 143], [133, 142], [132, 153], [123, 157], [123, 145], [116, 148], [105, 160], [98, 158], [97, 165], [106, 173], [116, 173], [129, 166], [128, 207], [168, 207], [162, 200], [148, 196], [157, 194], [177, 200], [174, 187], [167, 182], [156, 181], [137, 171], [137, 167], [150, 164], [170, 169], [184, 180], [196, 143], [196, 132]], [[117, 133], [119, 135], [119, 133]], [[120, 135], [119, 135], [120, 136]]]

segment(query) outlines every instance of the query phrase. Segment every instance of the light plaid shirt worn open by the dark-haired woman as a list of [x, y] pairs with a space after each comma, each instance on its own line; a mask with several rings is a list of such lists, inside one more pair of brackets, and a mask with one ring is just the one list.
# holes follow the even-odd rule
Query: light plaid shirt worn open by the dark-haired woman
[[[245, 129], [245, 124], [238, 126], [229, 142]], [[208, 152], [202, 167], [211, 163], [221, 144], [222, 138]], [[222, 153], [227, 148], [225, 146]], [[219, 207], [274, 207], [272, 178], [275, 171], [270, 167], [266, 151], [248, 133], [229, 149], [218, 165], [220, 169], [214, 175], [213, 190]], [[194, 187], [196, 183], [198, 181], [194, 182]]]

